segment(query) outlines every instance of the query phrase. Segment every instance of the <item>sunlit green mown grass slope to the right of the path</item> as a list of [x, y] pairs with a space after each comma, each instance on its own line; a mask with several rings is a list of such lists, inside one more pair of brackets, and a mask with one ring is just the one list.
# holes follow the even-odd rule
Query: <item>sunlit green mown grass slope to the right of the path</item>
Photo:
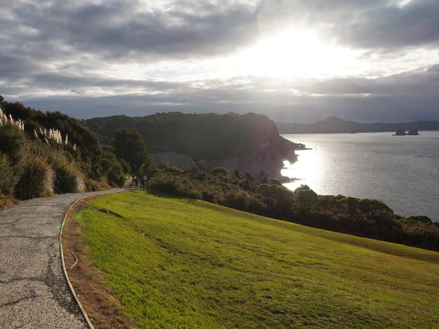
[[84, 241], [143, 328], [439, 328], [439, 254], [132, 191]]

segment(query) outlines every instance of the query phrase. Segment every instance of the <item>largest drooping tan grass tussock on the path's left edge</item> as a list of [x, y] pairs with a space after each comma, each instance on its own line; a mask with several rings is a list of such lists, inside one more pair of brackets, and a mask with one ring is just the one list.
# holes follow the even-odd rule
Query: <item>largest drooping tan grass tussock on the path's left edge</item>
[[54, 195], [54, 171], [46, 158], [40, 155], [27, 158], [15, 193], [20, 199]]

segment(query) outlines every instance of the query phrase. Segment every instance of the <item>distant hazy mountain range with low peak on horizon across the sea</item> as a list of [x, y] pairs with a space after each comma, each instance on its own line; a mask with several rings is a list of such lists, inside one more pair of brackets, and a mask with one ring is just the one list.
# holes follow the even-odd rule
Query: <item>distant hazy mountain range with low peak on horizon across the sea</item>
[[278, 122], [280, 134], [337, 134], [356, 132], [396, 132], [397, 130], [439, 130], [439, 121], [410, 123], [359, 123], [329, 117], [315, 123]]

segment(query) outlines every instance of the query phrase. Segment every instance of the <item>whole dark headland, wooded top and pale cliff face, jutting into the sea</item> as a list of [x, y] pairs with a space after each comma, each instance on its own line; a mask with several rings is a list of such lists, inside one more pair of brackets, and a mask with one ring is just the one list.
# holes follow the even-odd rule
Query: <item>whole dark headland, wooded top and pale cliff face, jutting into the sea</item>
[[[278, 177], [283, 159], [294, 160], [294, 144], [279, 135], [274, 121], [260, 114], [182, 114], [161, 113], [141, 118], [106, 117], [82, 121], [97, 134], [112, 138], [117, 127], [134, 127], [145, 139], [152, 158], [189, 164], [180, 154], [193, 160], [200, 169], [214, 167], [262, 171]], [[171, 153], [169, 153], [171, 152]], [[167, 155], [166, 155], [167, 154]], [[184, 167], [187, 167], [185, 165]]]

